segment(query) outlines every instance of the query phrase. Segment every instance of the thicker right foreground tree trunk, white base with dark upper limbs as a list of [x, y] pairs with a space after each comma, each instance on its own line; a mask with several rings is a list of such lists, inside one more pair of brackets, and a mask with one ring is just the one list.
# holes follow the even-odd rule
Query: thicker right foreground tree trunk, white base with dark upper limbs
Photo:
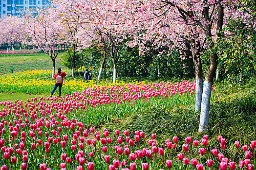
[[[221, 36], [222, 26], [223, 26], [223, 17], [224, 17], [224, 9], [222, 6], [222, 0], [218, 0], [218, 22], [216, 28], [216, 41], [218, 41]], [[208, 7], [204, 7], [204, 16], [205, 20], [209, 21], [209, 11]], [[206, 23], [207, 23], [206, 22]], [[208, 50], [213, 48], [213, 39], [210, 25], [206, 24], [205, 26], [205, 35], [206, 35], [206, 43]], [[202, 103], [201, 103], [201, 115], [200, 115], [200, 123], [199, 123], [199, 132], [204, 132], [207, 130], [208, 122], [209, 122], [209, 110], [210, 110], [210, 101], [211, 101], [211, 92], [213, 85], [213, 78], [218, 66], [217, 63], [218, 55], [216, 53], [210, 53], [210, 65], [206, 70]]]

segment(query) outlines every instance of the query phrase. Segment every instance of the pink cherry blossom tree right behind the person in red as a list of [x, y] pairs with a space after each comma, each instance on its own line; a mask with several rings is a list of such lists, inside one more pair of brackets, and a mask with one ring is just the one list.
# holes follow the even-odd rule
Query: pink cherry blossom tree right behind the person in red
[[23, 16], [24, 32], [27, 37], [24, 43], [35, 45], [52, 60], [52, 77], [55, 74], [55, 62], [58, 56], [57, 46], [63, 44], [66, 34], [61, 17], [55, 9], [38, 9], [38, 15], [28, 13]]

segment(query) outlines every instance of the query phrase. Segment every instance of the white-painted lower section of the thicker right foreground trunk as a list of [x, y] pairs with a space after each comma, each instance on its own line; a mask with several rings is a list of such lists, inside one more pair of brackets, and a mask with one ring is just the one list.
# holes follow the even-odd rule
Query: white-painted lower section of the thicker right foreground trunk
[[210, 100], [211, 100], [211, 92], [212, 92], [212, 82], [205, 81], [202, 103], [201, 103], [201, 114], [200, 114], [200, 123], [199, 123], [199, 132], [204, 132], [207, 129], [209, 122], [209, 110], [210, 110]]

